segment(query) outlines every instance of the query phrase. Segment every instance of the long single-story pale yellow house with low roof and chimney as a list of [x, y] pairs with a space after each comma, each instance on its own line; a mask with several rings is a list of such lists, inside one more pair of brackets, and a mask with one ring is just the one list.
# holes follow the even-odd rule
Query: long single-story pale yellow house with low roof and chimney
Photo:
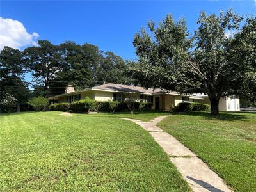
[[[83, 100], [85, 97], [90, 97], [90, 99], [97, 101], [124, 101], [126, 98], [131, 97], [131, 95], [137, 102], [152, 102], [152, 109], [164, 111], [172, 110], [173, 106], [177, 106], [180, 102], [209, 103], [207, 95], [206, 97], [201, 94], [180, 95], [177, 92], [166, 92], [159, 88], [146, 89], [140, 86], [113, 83], [93, 86], [78, 91], [75, 91], [72, 86], [68, 86], [66, 93], [49, 97], [48, 99], [50, 104], [57, 102], [73, 102], [76, 100]], [[239, 99], [236, 99], [235, 106], [236, 104], [239, 104]], [[234, 103], [230, 98], [228, 98], [228, 102], [226, 99], [221, 98], [220, 100], [221, 111], [238, 111], [233, 105]]]

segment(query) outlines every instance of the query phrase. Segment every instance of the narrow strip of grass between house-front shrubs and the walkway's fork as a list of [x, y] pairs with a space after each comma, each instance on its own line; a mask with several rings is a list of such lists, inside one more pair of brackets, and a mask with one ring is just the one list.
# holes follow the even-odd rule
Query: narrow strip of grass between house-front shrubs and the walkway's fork
[[135, 111], [134, 114], [130, 112], [116, 112], [116, 113], [92, 113], [92, 114], [79, 114], [72, 113], [74, 115], [85, 115], [85, 116], [93, 116], [93, 117], [109, 117], [109, 118], [133, 118], [142, 121], [149, 121], [157, 116], [163, 115], [172, 115], [170, 112], [156, 112], [156, 111]]

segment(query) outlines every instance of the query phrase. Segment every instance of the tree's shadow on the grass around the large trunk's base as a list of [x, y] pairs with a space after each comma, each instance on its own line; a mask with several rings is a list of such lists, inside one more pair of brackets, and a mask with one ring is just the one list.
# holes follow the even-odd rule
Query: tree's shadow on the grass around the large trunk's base
[[255, 117], [253, 117], [253, 115], [251, 113], [232, 113], [232, 112], [220, 112], [219, 115], [211, 115], [211, 113], [209, 112], [199, 112], [199, 111], [193, 111], [193, 112], [189, 112], [189, 113], [173, 113], [173, 115], [178, 115], [178, 114], [182, 114], [182, 115], [188, 115], [188, 116], [203, 116], [205, 119], [207, 120], [223, 120], [223, 121], [246, 121], [250, 118], [256, 118], [256, 113], [253, 114], [255, 115]]

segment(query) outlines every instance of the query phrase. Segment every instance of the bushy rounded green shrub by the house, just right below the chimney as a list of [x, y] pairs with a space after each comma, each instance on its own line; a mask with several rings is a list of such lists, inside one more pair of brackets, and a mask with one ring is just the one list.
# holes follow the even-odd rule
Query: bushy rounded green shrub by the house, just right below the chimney
[[95, 109], [95, 100], [86, 97], [84, 100], [79, 100], [72, 102], [70, 104], [70, 109], [75, 112], [88, 112], [88, 111], [96, 111]]

